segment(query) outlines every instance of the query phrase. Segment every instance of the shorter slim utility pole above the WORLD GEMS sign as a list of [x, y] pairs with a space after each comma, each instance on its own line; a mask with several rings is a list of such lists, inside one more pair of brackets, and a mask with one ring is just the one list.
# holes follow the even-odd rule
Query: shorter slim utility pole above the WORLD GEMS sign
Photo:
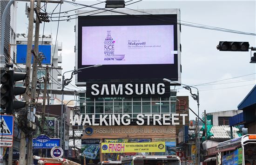
[[[48, 65], [46, 66], [46, 76], [44, 77], [44, 94], [43, 94], [43, 107], [41, 111], [41, 122], [40, 122], [40, 127], [41, 131], [40, 134], [43, 134], [44, 132], [44, 123], [45, 123], [45, 101], [46, 101], [46, 92], [47, 92], [47, 82], [48, 82]], [[42, 149], [39, 150], [39, 156], [42, 156]]]

